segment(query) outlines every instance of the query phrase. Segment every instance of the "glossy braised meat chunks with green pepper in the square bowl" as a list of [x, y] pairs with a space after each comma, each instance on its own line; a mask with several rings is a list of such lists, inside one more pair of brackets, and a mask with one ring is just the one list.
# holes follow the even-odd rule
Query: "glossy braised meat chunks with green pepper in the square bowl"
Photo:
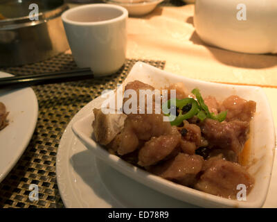
[[[136, 80], [126, 89], [139, 92], [154, 87]], [[164, 121], [168, 114], [163, 110], [158, 114], [103, 114], [95, 109], [97, 142], [123, 160], [180, 185], [235, 198], [237, 186], [242, 184], [249, 194], [255, 181], [238, 157], [249, 137], [256, 103], [239, 96], [224, 101], [214, 96], [202, 99], [198, 89], [189, 96], [182, 83], [165, 89], [176, 89], [177, 121]], [[154, 96], [152, 99], [152, 104], [157, 102]], [[170, 100], [167, 104], [171, 109]], [[137, 110], [142, 109], [140, 105], [138, 100]]]

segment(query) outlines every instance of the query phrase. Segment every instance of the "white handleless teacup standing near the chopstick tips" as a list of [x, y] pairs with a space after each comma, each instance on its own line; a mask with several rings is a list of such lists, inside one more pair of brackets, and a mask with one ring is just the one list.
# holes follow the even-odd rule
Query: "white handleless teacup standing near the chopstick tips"
[[125, 8], [105, 3], [78, 6], [62, 14], [78, 67], [90, 67], [95, 76], [107, 76], [123, 66], [127, 17]]

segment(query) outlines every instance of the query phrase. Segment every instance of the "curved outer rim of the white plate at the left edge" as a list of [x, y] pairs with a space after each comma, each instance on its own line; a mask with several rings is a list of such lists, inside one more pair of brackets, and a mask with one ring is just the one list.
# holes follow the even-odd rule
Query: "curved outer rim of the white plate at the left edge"
[[[11, 74], [8, 74], [6, 72], [0, 71], [0, 74], [3, 74], [3, 77], [10, 77], [12, 76]], [[19, 158], [21, 157], [21, 155], [24, 153], [26, 147], [28, 146], [30, 139], [33, 136], [33, 132], [35, 130], [35, 126], [37, 124], [37, 116], [38, 116], [38, 103], [37, 103], [37, 96], [35, 95], [35, 92], [33, 91], [32, 88], [28, 87], [28, 88], [24, 88], [24, 89], [20, 89], [20, 90], [28, 90], [30, 92], [30, 98], [33, 100], [33, 105], [35, 105], [34, 107], [34, 112], [35, 115], [33, 116], [32, 119], [30, 119], [30, 125], [32, 127], [28, 128], [28, 132], [23, 132], [28, 134], [28, 137], [24, 138], [24, 141], [21, 142], [21, 146], [20, 148], [17, 149], [17, 153], [15, 153], [15, 155], [13, 155], [12, 160], [10, 160], [9, 164], [6, 165], [5, 169], [3, 169], [3, 172], [0, 172], [0, 182], [6, 178], [6, 176], [8, 175], [8, 173], [12, 170], [12, 168], [15, 166], [15, 164], [17, 163], [17, 161], [19, 160]], [[18, 93], [15, 92], [15, 93]], [[12, 112], [12, 111], [10, 111]], [[12, 124], [12, 123], [10, 123]], [[8, 126], [7, 126], [8, 127]]]

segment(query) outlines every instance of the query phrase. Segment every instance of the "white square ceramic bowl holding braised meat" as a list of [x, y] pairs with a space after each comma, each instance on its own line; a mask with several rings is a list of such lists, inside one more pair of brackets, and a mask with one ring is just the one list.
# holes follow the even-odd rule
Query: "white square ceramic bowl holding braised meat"
[[[256, 101], [256, 114], [253, 121], [251, 121], [251, 154], [249, 157], [249, 161], [253, 162], [251, 167], [249, 167], [249, 173], [256, 181], [250, 194], [247, 195], [247, 200], [230, 200], [178, 185], [175, 182], [170, 182], [134, 167], [132, 164], [120, 159], [120, 157], [110, 154], [104, 147], [93, 140], [93, 128], [91, 126], [94, 119], [93, 110], [87, 113], [87, 117], [80, 119], [72, 126], [73, 132], [82, 144], [93, 151], [96, 157], [104, 160], [111, 167], [125, 174], [125, 176], [129, 176], [143, 185], [183, 200], [186, 203], [202, 207], [262, 207], [269, 188], [275, 151], [274, 121], [267, 96], [262, 88], [193, 80], [184, 76], [170, 74], [143, 62], [136, 62], [125, 79], [123, 87], [133, 80], [140, 80], [158, 89], [170, 83], [182, 82], [189, 91], [197, 87], [203, 96], [213, 95], [218, 100], [235, 94], [243, 99]], [[97, 108], [100, 108], [100, 105], [98, 104]]]

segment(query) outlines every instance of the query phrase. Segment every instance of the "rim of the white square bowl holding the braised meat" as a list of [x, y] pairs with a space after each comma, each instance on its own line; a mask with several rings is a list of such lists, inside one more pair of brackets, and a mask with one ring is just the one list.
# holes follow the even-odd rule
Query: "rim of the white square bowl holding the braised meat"
[[[161, 69], [157, 69], [156, 67], [147, 65], [143, 62], [136, 62], [136, 65], [134, 65], [132, 71], [134, 70], [134, 68], [137, 68], [139, 66], [146, 67], [150, 71], [153, 71], [153, 72], [159, 72], [159, 74], [163, 74], [163, 76], [167, 76], [167, 77], [174, 76], [175, 79], [177, 78], [180, 81], [184, 81], [184, 82], [189, 81], [189, 82], [193, 82], [195, 84], [197, 83], [197, 85], [209, 85], [210, 87], [212, 87], [215, 85], [218, 86], [218, 84], [219, 84], [219, 83], [207, 83], [207, 82], [204, 82], [201, 80], [193, 80], [190, 78], [186, 78], [184, 76], [176, 76], [174, 74], [170, 74]], [[132, 71], [130, 72], [129, 76], [132, 75]], [[123, 85], [127, 81], [128, 81], [128, 77], [126, 78]], [[220, 85], [226, 85], [226, 84], [220, 84]], [[121, 173], [124, 173], [125, 175], [133, 178], [134, 180], [136, 180], [138, 182], [143, 181], [143, 184], [148, 185], [149, 187], [152, 187], [153, 189], [157, 189], [158, 191], [161, 191], [163, 194], [168, 194], [169, 196], [175, 197], [179, 200], [184, 200], [185, 197], [188, 197], [188, 198], [190, 198], [190, 200], [193, 200], [193, 202], [190, 201], [189, 203], [193, 203], [196, 205], [202, 205], [201, 203], [199, 204], [199, 201], [201, 202], [201, 200], [208, 200], [209, 203], [211, 203], [213, 206], [216, 206], [216, 207], [222, 207], [222, 206], [223, 207], [261, 207], [262, 204], [265, 202], [265, 198], [267, 196], [267, 191], [269, 188], [271, 171], [272, 171], [272, 167], [273, 167], [274, 150], [275, 150], [275, 129], [274, 129], [274, 123], [273, 123], [271, 109], [269, 107], [267, 97], [265, 96], [265, 93], [262, 91], [262, 89], [260, 87], [241, 86], [241, 85], [238, 85], [238, 86], [226, 85], [226, 86], [235, 87], [236, 89], [242, 89], [242, 88], [258, 89], [260, 91], [260, 93], [262, 93], [262, 96], [264, 97], [263, 99], [265, 99], [265, 101], [266, 101], [266, 104], [267, 104], [266, 110], [270, 114], [269, 122], [271, 123], [271, 131], [270, 131], [271, 135], [269, 135], [269, 137], [271, 137], [271, 142], [269, 142], [270, 148], [268, 148], [268, 149], [269, 149], [269, 151], [271, 151], [271, 148], [272, 148], [273, 155], [271, 155], [271, 158], [272, 158], [271, 162], [269, 162], [265, 166], [265, 167], [267, 167], [267, 173], [269, 173], [269, 178], [267, 179], [267, 181], [264, 184], [264, 187], [266, 187], [266, 189], [263, 190], [262, 192], [260, 192], [261, 193], [260, 198], [258, 198], [258, 200], [256, 200], [256, 201], [252, 201], [252, 202], [245, 201], [244, 202], [244, 201], [238, 201], [238, 200], [229, 200], [227, 198], [221, 198], [221, 197], [214, 196], [211, 194], [206, 194], [202, 191], [197, 191], [196, 189], [184, 187], [182, 185], [177, 185], [174, 182], [164, 180], [163, 178], [154, 176], [154, 175], [148, 173], [147, 171], [143, 171], [143, 170], [139, 169], [138, 167], [134, 167], [132, 164], [125, 162], [124, 160], [120, 159], [120, 157], [118, 157], [116, 155], [111, 155], [104, 148], [102, 148], [102, 146], [100, 146], [99, 144], [94, 142], [93, 139], [91, 139], [91, 137], [84, 135], [84, 133], [82, 133], [82, 130], [80, 130], [80, 128], [78, 128], [79, 124], [81, 124], [83, 121], [87, 122], [87, 121], [89, 121], [89, 119], [91, 119], [91, 121], [92, 121], [93, 114], [89, 114], [87, 117], [84, 117], [83, 119], [80, 119], [79, 121], [74, 123], [72, 126], [73, 133], [75, 133], [75, 135], [81, 140], [81, 142], [85, 146], [87, 146], [87, 148], [89, 148], [91, 151], [93, 151], [98, 157], [100, 157], [101, 160], [104, 160], [109, 165], [111, 165], [111, 167], [114, 167]]]

